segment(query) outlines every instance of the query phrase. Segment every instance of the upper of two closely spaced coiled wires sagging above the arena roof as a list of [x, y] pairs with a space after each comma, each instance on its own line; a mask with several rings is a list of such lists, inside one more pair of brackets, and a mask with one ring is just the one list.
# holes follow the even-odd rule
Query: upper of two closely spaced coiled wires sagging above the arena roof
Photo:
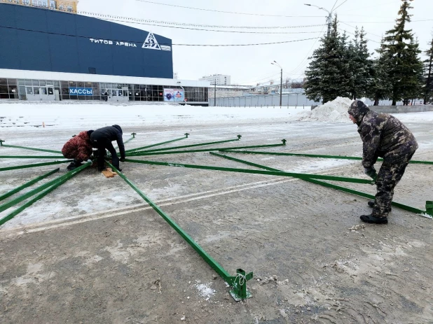
[[[217, 25], [217, 24], [191, 24], [189, 22], [166, 22], [162, 20], [150, 20], [150, 19], [138, 19], [132, 17], [123, 17], [123, 16], [115, 16], [115, 15], [104, 15], [102, 13], [91, 13], [88, 11], [78, 11], [81, 15], [92, 15], [96, 17], [106, 18], [109, 17], [111, 19], [116, 20], [128, 20], [128, 22], [143, 22], [146, 24], [169, 24], [170, 26], [193, 26], [193, 27], [205, 27], [205, 28], [222, 28], [222, 29], [289, 29], [289, 28], [305, 28], [305, 27], [317, 27], [322, 26], [322, 24], [305, 24], [305, 25], [297, 25], [297, 26], [227, 26], [227, 25]], [[108, 20], [108, 19], [107, 19]]]

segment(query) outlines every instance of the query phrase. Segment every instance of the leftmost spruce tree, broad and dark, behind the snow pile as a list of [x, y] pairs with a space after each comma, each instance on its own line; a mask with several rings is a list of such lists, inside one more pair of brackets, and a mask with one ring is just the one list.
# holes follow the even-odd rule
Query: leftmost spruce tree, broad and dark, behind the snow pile
[[308, 99], [323, 103], [336, 97], [349, 97], [347, 36], [338, 33], [337, 17], [334, 18], [331, 33], [324, 36], [322, 43], [310, 57], [311, 61], [305, 71], [305, 95]]

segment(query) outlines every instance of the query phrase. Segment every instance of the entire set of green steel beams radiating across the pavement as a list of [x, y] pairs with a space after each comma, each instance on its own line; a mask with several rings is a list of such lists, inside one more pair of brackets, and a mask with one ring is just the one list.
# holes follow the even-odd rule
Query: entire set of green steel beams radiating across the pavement
[[[135, 139], [136, 133], [131, 134], [132, 137], [125, 141], [125, 143], [128, 143], [129, 141], [132, 141], [132, 139]], [[126, 150], [127, 157], [139, 157], [144, 155], [167, 155], [167, 154], [179, 154], [179, 153], [198, 153], [198, 152], [209, 152], [211, 155], [223, 157], [228, 160], [233, 160], [236, 162], [240, 162], [242, 164], [247, 164], [252, 167], [259, 168], [261, 170], [254, 170], [254, 169], [240, 169], [240, 168], [227, 168], [227, 167], [214, 167], [214, 166], [207, 166], [207, 165], [196, 165], [196, 164], [182, 164], [182, 163], [174, 163], [174, 162], [157, 162], [157, 161], [146, 161], [146, 160], [131, 160], [131, 159], [125, 159], [125, 162], [131, 162], [131, 163], [139, 163], [139, 164], [151, 164], [151, 165], [161, 165], [166, 167], [183, 167], [183, 168], [189, 168], [189, 169], [205, 169], [205, 170], [212, 170], [212, 171], [226, 171], [226, 172], [237, 172], [237, 173], [248, 173], [248, 174], [263, 174], [263, 175], [269, 175], [269, 176], [288, 176], [293, 178], [299, 178], [303, 181], [308, 181], [310, 183], [315, 183], [317, 185], [323, 185], [328, 188], [332, 188], [334, 190], [340, 190], [343, 192], [348, 192], [354, 195], [358, 195], [361, 197], [366, 197], [370, 199], [374, 199], [373, 195], [366, 194], [365, 192], [360, 192], [357, 190], [352, 190], [349, 188], [341, 187], [340, 185], [334, 185], [332, 183], [328, 183], [325, 181], [340, 181], [340, 182], [348, 182], [348, 183], [364, 183], [364, 184], [374, 184], [374, 181], [371, 180], [365, 180], [362, 178], [348, 178], [348, 177], [342, 177], [342, 176], [326, 176], [326, 175], [319, 175], [319, 174], [298, 174], [294, 172], [285, 172], [279, 169], [274, 169], [272, 167], [266, 167], [261, 164], [256, 164], [253, 162], [248, 162], [245, 160], [240, 160], [235, 157], [230, 157], [228, 155], [221, 155], [218, 153], [215, 153], [215, 151], [220, 151], [222, 153], [242, 153], [242, 154], [263, 154], [263, 155], [283, 155], [283, 156], [303, 156], [303, 157], [320, 157], [320, 158], [332, 158], [332, 159], [345, 159], [345, 160], [361, 160], [361, 157], [348, 157], [348, 156], [340, 156], [340, 155], [312, 155], [312, 154], [302, 154], [302, 153], [272, 153], [272, 152], [258, 152], [258, 151], [246, 151], [246, 150], [239, 150], [239, 149], [245, 149], [245, 148], [272, 148], [277, 146], [285, 146], [286, 140], [283, 139], [282, 143], [280, 144], [270, 144], [270, 145], [260, 145], [260, 146], [238, 146], [233, 148], [205, 148], [205, 149], [198, 149], [198, 150], [179, 150], [181, 148], [192, 148], [196, 146], [212, 146], [219, 143], [228, 143], [231, 141], [240, 141], [241, 135], [238, 135], [238, 139], [229, 139], [224, 141], [213, 141], [213, 142], [207, 142], [207, 143], [198, 143], [198, 144], [191, 144], [191, 145], [185, 145], [185, 146], [172, 146], [168, 148], [154, 148], [156, 146], [162, 146], [167, 143], [172, 143], [174, 141], [181, 141], [183, 139], [188, 139], [188, 133], [185, 134], [184, 137], [181, 137], [179, 139], [173, 139], [170, 141], [164, 141], [161, 143], [155, 143], [148, 146], [142, 146], [139, 148], [132, 148], [130, 150]], [[25, 146], [12, 146], [12, 145], [5, 145], [3, 140], [0, 140], [0, 146], [5, 148], [20, 148], [25, 150], [36, 150], [40, 152], [47, 152], [47, 153], [61, 153], [60, 151], [56, 150], [46, 150], [41, 148], [28, 148]], [[149, 148], [153, 148], [149, 150]], [[148, 149], [148, 150], [146, 150]], [[71, 162], [71, 160], [64, 160], [64, 157], [59, 155], [38, 155], [38, 156], [27, 156], [27, 155], [1, 155], [0, 158], [5, 159], [56, 159], [61, 161], [55, 161], [55, 162], [45, 162], [45, 163], [37, 163], [37, 164], [27, 164], [27, 165], [18, 165], [13, 167], [4, 167], [0, 168], [0, 171], [9, 171], [14, 169], [27, 169], [27, 168], [33, 168], [33, 167], [44, 167], [47, 165], [53, 165], [53, 164], [62, 164]], [[379, 159], [380, 160], [380, 159]], [[411, 161], [411, 163], [418, 163], [418, 164], [433, 164], [433, 162], [430, 161]], [[233, 289], [230, 291], [231, 296], [237, 300], [245, 300], [249, 297], [252, 297], [251, 293], [247, 290], [247, 281], [253, 278], [253, 273], [249, 272], [246, 273], [242, 269], [236, 270], [236, 275], [231, 276], [228, 274], [228, 272], [219, 265], [219, 263], [212, 258], [211, 255], [209, 255], [206, 251], [203, 250], [203, 248], [197, 244], [177, 223], [170, 218], [158, 205], [156, 205], [149, 197], [147, 197], [144, 192], [139, 190], [137, 186], [132, 183], [121, 171], [118, 171], [109, 161], [107, 161], [107, 164], [116, 171], [116, 173], [123, 178], [123, 180], [130, 185], [130, 187], [137, 192], [137, 194], [146, 201], [149, 206], [152, 207], [154, 211], [156, 211], [202, 258], [207, 262], [207, 264], [214, 269], [219, 276], [221, 276], [226, 283], [228, 283]], [[0, 219], [0, 225], [3, 225], [8, 220], [11, 220], [13, 217], [18, 215], [21, 211], [25, 210], [28, 206], [31, 206], [34, 204], [34, 202], [37, 202], [39, 199], [45, 197], [48, 195], [48, 193], [55, 190], [55, 188], [58, 188], [60, 185], [65, 183], [70, 178], [76, 176], [80, 171], [83, 169], [90, 167], [91, 163], [85, 163], [81, 167], [78, 167], [77, 169], [74, 169], [73, 171], [67, 172], [67, 174], [64, 174], [62, 176], [58, 176], [57, 178], [53, 179], [52, 181], [48, 181], [48, 183], [45, 183], [43, 185], [40, 185], [39, 187], [35, 188], [34, 190], [31, 190], [24, 195], [20, 195], [19, 197], [16, 197], [15, 199], [12, 199], [9, 202], [6, 202], [4, 204], [0, 205], [0, 212], [6, 211], [7, 209], [10, 209], [11, 207], [19, 204], [20, 202], [32, 198], [29, 201], [27, 201], [22, 206], [18, 207], [18, 209], [15, 209], [15, 211], [12, 211], [4, 218]], [[18, 188], [15, 188], [9, 192], [6, 192], [4, 195], [0, 196], [0, 201], [4, 200], [8, 197], [11, 197], [12, 195], [15, 195], [16, 193], [20, 192], [20, 190], [23, 190], [25, 188], [28, 188], [31, 185], [34, 185], [34, 183], [37, 183], [38, 181], [43, 180], [44, 178], [47, 178], [48, 176], [54, 174], [55, 172], [59, 171], [59, 169], [55, 169], [53, 171], [48, 172], [47, 174], [43, 174], [42, 176], [39, 176], [37, 178], [34, 178], [31, 181], [28, 181], [27, 183], [20, 185]], [[323, 181], [325, 180], [325, 181]], [[397, 206], [401, 209], [411, 211], [413, 213], [418, 214], [424, 214], [425, 216], [433, 216], [433, 202], [428, 201], [426, 202], [426, 210], [422, 211], [421, 209], [416, 209], [415, 207], [406, 206], [404, 204], [399, 204], [397, 202], [392, 202], [393, 206]]]

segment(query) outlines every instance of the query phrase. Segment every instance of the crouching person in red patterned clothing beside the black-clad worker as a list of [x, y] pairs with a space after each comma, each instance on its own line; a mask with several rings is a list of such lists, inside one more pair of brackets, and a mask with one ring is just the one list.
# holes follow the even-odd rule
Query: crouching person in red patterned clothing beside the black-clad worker
[[62, 148], [63, 156], [68, 159], [74, 159], [74, 161], [68, 165], [68, 171], [79, 167], [83, 161], [90, 160], [90, 155], [92, 155], [90, 134], [92, 134], [92, 132], [92, 130], [81, 132], [64, 144]]

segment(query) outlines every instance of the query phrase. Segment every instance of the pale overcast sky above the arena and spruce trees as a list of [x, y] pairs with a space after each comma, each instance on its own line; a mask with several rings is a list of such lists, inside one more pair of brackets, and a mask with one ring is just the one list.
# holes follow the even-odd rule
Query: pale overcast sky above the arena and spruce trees
[[[305, 6], [303, 3], [322, 6], [329, 11], [333, 8], [334, 3], [336, 3], [335, 8], [343, 3], [336, 9], [338, 20], [341, 21], [339, 28], [348, 31], [349, 36], [352, 36], [350, 33], [355, 31], [355, 26], [363, 26], [367, 32], [367, 38], [371, 40], [369, 41], [369, 48], [373, 52], [378, 48], [380, 37], [385, 34], [385, 31], [394, 26], [394, 20], [397, 18], [401, 5], [401, 0], [337, 0], [337, 2], [336, 0], [149, 1], [154, 3], [140, 0], [80, 0], [78, 10], [167, 22], [270, 27], [325, 24], [327, 13], [324, 10]], [[260, 15], [218, 13], [163, 6], [156, 3]], [[432, 40], [433, 0], [415, 0], [412, 2], [412, 6], [413, 9], [410, 11], [413, 15], [412, 20], [429, 20], [425, 22], [414, 21], [410, 24], [415, 36], [418, 37], [420, 49], [426, 50], [428, 47], [427, 43]], [[144, 24], [128, 25], [171, 38], [174, 44], [272, 43], [319, 37], [327, 30], [323, 26], [290, 29], [222, 29], [227, 31], [304, 32], [302, 34], [236, 34], [231, 32], [175, 29]], [[315, 33], [305, 33], [305, 31]], [[320, 33], [321, 31], [322, 34]], [[219, 73], [230, 75], [232, 84], [254, 84], [270, 79], [279, 80], [279, 68], [270, 64], [270, 62], [275, 60], [282, 66], [284, 78], [302, 78], [305, 67], [308, 65], [307, 58], [318, 45], [319, 41], [315, 39], [294, 43], [240, 47], [174, 45], [172, 49], [174, 72], [178, 73], [179, 79], [184, 80], [198, 80], [202, 76]]]

